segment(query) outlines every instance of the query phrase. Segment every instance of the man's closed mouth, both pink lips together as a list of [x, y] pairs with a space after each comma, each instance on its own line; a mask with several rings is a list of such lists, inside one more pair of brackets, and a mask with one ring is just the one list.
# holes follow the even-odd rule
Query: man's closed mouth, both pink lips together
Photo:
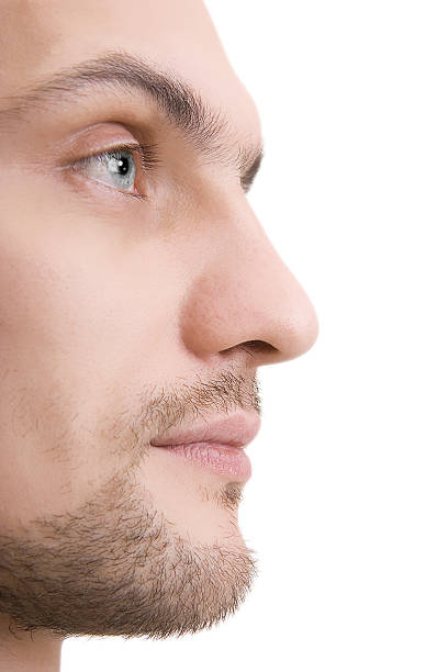
[[244, 448], [256, 437], [260, 424], [258, 415], [239, 413], [158, 436], [150, 441], [150, 447], [220, 477], [247, 481], [251, 464]]

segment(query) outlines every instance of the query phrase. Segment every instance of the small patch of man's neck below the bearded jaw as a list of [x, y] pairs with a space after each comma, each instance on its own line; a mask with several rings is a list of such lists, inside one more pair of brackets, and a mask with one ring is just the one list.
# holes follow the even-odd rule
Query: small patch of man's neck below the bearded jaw
[[59, 672], [64, 638], [51, 632], [21, 632], [0, 614], [0, 670]]

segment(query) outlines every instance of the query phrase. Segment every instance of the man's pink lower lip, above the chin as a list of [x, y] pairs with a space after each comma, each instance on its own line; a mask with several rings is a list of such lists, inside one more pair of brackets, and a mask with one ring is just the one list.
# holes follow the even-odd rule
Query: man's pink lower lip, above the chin
[[250, 460], [243, 448], [206, 443], [158, 446], [158, 448], [219, 475], [247, 481], [251, 474]]

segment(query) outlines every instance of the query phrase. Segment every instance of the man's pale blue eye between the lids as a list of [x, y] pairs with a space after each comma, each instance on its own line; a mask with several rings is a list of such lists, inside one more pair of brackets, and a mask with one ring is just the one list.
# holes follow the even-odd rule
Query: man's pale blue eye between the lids
[[124, 191], [134, 191], [136, 165], [132, 152], [124, 149], [103, 152], [81, 159], [78, 166], [91, 180]]

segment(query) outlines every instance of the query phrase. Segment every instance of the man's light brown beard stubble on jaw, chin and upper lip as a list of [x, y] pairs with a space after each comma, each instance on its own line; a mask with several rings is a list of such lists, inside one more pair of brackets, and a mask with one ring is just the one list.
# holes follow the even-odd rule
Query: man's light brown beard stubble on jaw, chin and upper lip
[[153, 426], [157, 417], [157, 429], [166, 428], [203, 413], [212, 402], [227, 413], [235, 406], [247, 408], [248, 391], [250, 407], [257, 407], [255, 381], [248, 387], [248, 381], [228, 374], [220, 385], [190, 388], [190, 406], [186, 390], [176, 399], [153, 396], [139, 424], [134, 418], [127, 426], [139, 440], [134, 440], [126, 467], [94, 496], [74, 512], [2, 530], [0, 612], [10, 616], [12, 631], [164, 639], [210, 628], [235, 613], [257, 575], [255, 551], [236, 534], [243, 484], [200, 489], [203, 501], [228, 512], [235, 535], [193, 544], [148, 499], [138, 466], [147, 408], [153, 410]]

